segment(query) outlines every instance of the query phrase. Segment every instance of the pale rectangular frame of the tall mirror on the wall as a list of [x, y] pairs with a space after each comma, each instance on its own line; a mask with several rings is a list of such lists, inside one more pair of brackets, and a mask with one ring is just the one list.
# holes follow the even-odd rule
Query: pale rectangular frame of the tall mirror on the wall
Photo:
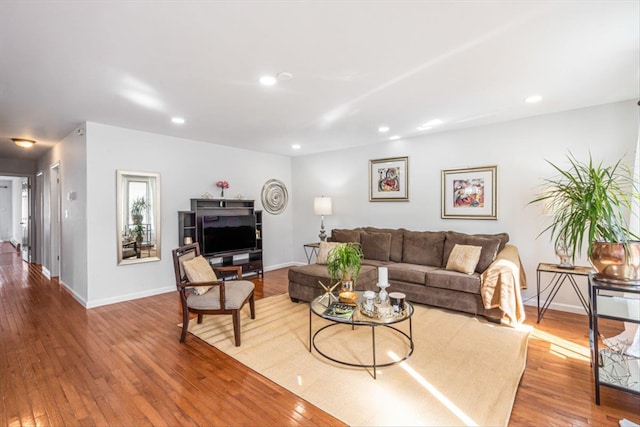
[[[123, 185], [129, 178], [145, 178], [155, 179], [155, 186], [151, 189], [151, 208], [153, 210], [153, 224], [152, 230], [155, 230], [156, 234], [156, 256], [149, 256], [145, 258], [124, 258], [123, 255], [123, 236], [122, 230], [124, 230], [123, 219], [129, 217], [129, 212], [125, 212], [128, 209], [128, 203], [125, 202], [126, 191], [123, 189]], [[150, 172], [136, 172], [136, 171], [116, 171], [116, 242], [118, 252], [118, 265], [140, 264], [144, 262], [160, 261], [160, 242], [161, 242], [161, 217], [160, 217], [160, 174]]]

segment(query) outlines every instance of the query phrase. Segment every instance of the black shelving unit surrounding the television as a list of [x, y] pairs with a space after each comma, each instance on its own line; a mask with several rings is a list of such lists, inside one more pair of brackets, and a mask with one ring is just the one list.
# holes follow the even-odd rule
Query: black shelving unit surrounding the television
[[[178, 211], [178, 244], [183, 245], [191, 239], [191, 241], [199, 243], [200, 252], [209, 260], [211, 265], [241, 266], [243, 276], [256, 274], [264, 277], [264, 266], [262, 262], [262, 211], [255, 210], [254, 206], [255, 202], [253, 200], [191, 199], [190, 211]], [[209, 250], [209, 252], [207, 252], [207, 248], [204, 247], [206, 246], [204, 244], [205, 235], [203, 229], [203, 224], [206, 223], [205, 218], [207, 218], [206, 221], [209, 221], [209, 218], [213, 218], [216, 221], [220, 218], [223, 222], [224, 220], [234, 222], [234, 217], [237, 217], [239, 221], [241, 218], [245, 218], [246, 220], [248, 216], [253, 216], [255, 220], [255, 247], [245, 247], [243, 244], [245, 240], [247, 240], [245, 227], [245, 233], [237, 240], [226, 241], [226, 243], [232, 247], [240, 246], [238, 250], [218, 252], [211, 252]], [[245, 239], [242, 237], [245, 237]], [[211, 234], [207, 234], [207, 242], [211, 242]], [[215, 242], [216, 240], [214, 240], [213, 243], [215, 244]], [[226, 249], [229, 248], [227, 247]], [[230, 274], [223, 274], [220, 278], [226, 279], [229, 277], [231, 277]]]

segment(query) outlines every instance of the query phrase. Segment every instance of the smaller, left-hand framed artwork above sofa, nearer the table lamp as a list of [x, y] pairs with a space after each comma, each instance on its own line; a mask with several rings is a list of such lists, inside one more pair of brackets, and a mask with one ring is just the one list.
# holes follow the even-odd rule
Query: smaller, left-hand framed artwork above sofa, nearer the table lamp
[[369, 201], [409, 201], [409, 158], [369, 160]]

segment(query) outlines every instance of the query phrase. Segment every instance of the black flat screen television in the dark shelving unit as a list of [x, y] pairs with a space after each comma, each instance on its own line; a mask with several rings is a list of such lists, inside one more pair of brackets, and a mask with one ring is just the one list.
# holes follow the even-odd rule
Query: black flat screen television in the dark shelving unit
[[255, 249], [256, 217], [203, 216], [201, 242], [204, 255]]

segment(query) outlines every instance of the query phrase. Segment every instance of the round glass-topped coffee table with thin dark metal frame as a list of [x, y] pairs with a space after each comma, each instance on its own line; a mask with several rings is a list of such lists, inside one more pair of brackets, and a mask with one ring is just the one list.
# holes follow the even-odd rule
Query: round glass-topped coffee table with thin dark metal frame
[[[401, 313], [395, 313], [395, 315], [392, 317], [384, 317], [384, 318], [369, 317], [360, 310], [361, 301], [363, 299], [362, 291], [358, 291], [357, 293], [358, 293], [358, 299], [356, 300], [357, 305], [355, 307], [353, 315], [349, 319], [326, 317], [324, 315], [324, 312], [329, 306], [329, 303], [331, 301], [328, 298], [326, 298], [324, 295], [321, 295], [315, 298], [313, 301], [309, 303], [309, 352], [312, 352], [312, 348], [314, 348], [318, 352], [318, 354], [320, 354], [321, 356], [333, 362], [336, 362], [342, 365], [354, 366], [354, 367], [360, 367], [360, 368], [373, 368], [373, 378], [376, 379], [377, 368], [398, 364], [404, 360], [407, 360], [413, 354], [413, 348], [414, 348], [413, 329], [411, 325], [411, 316], [413, 316], [413, 305], [411, 305], [411, 303], [409, 302], [405, 302], [404, 311], [402, 311]], [[324, 325], [317, 331], [313, 332], [312, 318], [314, 315], [318, 317], [322, 317], [323, 319], [326, 319], [331, 323], [329, 323], [328, 325]], [[409, 321], [408, 333], [398, 329], [398, 327], [396, 326], [398, 323], [402, 323], [407, 320]], [[345, 360], [339, 360], [335, 357], [331, 357], [327, 355], [316, 346], [316, 337], [318, 336], [318, 334], [321, 334], [323, 331], [327, 331], [330, 328], [345, 327], [345, 326], [350, 326], [351, 329], [355, 329], [357, 326], [365, 326], [365, 327], [371, 328], [371, 356], [372, 356], [371, 363], [352, 363]], [[388, 328], [394, 334], [399, 334], [406, 340], [407, 351], [403, 356], [399, 356], [397, 360], [393, 360], [391, 362], [385, 362], [385, 363], [376, 362], [376, 328], [378, 327]]]

